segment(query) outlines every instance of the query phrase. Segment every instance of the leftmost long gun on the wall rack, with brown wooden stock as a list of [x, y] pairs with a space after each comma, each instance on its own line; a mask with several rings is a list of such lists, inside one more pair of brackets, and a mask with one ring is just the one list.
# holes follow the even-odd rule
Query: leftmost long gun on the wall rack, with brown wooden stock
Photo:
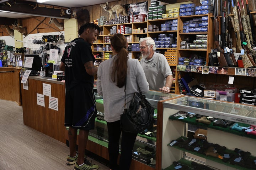
[[[218, 2], [218, 0], [217, 0]], [[228, 67], [228, 63], [225, 60], [224, 50], [220, 48], [220, 17], [218, 17], [218, 5], [216, 6], [216, 0], [213, 0], [213, 13], [214, 13], [214, 42], [218, 50], [218, 62], [221, 67]]]

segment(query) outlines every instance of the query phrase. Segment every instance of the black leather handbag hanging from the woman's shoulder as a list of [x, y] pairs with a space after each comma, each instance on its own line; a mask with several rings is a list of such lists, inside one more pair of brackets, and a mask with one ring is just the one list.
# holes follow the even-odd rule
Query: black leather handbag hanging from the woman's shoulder
[[[139, 88], [139, 87], [138, 87]], [[121, 128], [125, 132], [138, 134], [154, 123], [154, 107], [146, 100], [146, 96], [135, 92], [129, 108], [126, 108], [126, 83], [124, 85], [124, 112], [121, 115]]]

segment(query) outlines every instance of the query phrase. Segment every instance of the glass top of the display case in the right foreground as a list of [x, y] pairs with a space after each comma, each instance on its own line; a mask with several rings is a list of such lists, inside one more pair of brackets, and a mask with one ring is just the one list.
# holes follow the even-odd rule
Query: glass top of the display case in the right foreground
[[256, 107], [184, 96], [164, 102], [164, 107], [256, 125]]

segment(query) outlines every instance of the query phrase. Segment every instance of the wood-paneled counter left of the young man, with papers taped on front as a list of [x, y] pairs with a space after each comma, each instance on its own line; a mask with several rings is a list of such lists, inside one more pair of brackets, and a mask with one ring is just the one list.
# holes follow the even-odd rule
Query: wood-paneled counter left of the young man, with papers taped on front
[[[43, 83], [51, 85], [51, 96], [58, 98], [58, 111], [49, 109], [49, 96], [44, 95], [45, 107], [37, 104], [37, 94], [43, 95]], [[23, 89], [23, 85], [21, 87], [23, 123], [65, 143], [65, 84], [39, 76], [30, 76], [28, 90]]]

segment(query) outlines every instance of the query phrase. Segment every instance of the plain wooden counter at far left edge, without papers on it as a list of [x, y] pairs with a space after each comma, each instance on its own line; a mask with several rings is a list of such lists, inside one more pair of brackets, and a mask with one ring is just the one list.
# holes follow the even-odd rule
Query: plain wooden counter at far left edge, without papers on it
[[0, 68], [0, 99], [14, 101], [21, 106], [20, 70], [16, 67]]

